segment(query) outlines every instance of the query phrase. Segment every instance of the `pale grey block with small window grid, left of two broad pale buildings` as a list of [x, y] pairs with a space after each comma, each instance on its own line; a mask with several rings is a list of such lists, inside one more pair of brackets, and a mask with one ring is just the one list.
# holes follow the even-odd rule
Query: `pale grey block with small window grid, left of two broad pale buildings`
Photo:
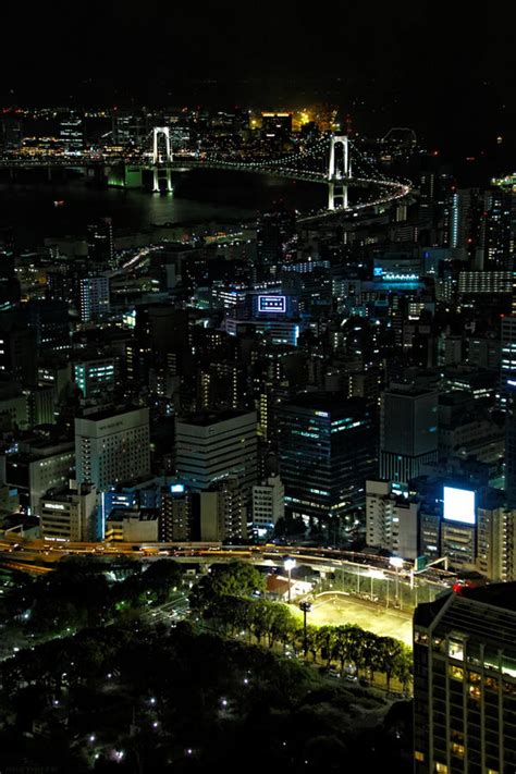
[[150, 474], [149, 409], [128, 408], [88, 414], [75, 419], [78, 483], [105, 492], [115, 483]]

